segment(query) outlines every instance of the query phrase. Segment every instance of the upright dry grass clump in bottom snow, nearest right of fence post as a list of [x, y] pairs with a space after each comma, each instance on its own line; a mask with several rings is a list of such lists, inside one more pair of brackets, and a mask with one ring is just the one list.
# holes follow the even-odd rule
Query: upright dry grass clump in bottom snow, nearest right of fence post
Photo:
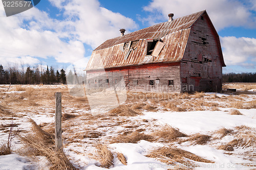
[[97, 149], [97, 155], [93, 156], [93, 158], [100, 162], [100, 166], [104, 168], [112, 166], [114, 156], [108, 147], [105, 144], [96, 144], [95, 148]]

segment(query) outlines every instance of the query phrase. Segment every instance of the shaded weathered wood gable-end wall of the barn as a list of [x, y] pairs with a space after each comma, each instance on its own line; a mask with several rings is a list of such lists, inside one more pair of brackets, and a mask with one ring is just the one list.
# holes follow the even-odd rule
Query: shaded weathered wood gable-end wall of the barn
[[219, 36], [209, 20], [202, 17], [191, 27], [188, 43], [181, 60], [183, 91], [220, 91], [222, 86], [221, 52]]

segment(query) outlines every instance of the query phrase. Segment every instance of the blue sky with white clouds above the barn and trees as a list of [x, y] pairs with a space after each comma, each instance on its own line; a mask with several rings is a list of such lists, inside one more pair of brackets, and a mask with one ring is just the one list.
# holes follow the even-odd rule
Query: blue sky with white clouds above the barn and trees
[[94, 48], [120, 35], [206, 10], [221, 39], [228, 72], [256, 72], [256, 1], [45, 0], [6, 17], [0, 5], [0, 64], [85, 68]]

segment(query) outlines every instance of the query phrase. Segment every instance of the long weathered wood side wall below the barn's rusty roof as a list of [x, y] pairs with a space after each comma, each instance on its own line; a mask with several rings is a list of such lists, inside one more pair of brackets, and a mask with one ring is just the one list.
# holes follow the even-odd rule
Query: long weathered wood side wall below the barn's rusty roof
[[[87, 71], [87, 87], [114, 88], [116, 85], [119, 86], [122, 78], [126, 89], [131, 91], [176, 93], [181, 91], [180, 63], [143, 64], [118, 69], [105, 69], [105, 71], [90, 70]], [[108, 83], [106, 83], [106, 79], [108, 79]], [[152, 80], [154, 85], [150, 85]], [[168, 85], [168, 80], [174, 81], [174, 84]]]

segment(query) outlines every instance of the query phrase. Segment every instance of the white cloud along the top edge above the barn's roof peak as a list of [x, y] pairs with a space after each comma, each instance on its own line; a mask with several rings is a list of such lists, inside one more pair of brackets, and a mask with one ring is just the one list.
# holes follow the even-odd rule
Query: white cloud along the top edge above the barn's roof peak
[[[168, 13], [174, 13], [174, 17], [178, 18], [198, 11], [206, 10], [209, 14], [214, 26], [217, 30], [230, 26], [247, 26], [256, 28], [255, 16], [249, 11], [256, 10], [256, 1], [250, 0], [244, 3], [233, 0], [153, 0], [148, 6], [144, 7], [145, 11], [152, 12], [151, 23], [155, 22], [154, 15], [156, 12], [162, 14], [162, 18], [166, 18]], [[149, 17], [149, 18], [150, 18]], [[159, 16], [158, 16], [159, 17]], [[148, 18], [148, 17], [147, 17]], [[148, 20], [144, 18], [145, 20]]]

